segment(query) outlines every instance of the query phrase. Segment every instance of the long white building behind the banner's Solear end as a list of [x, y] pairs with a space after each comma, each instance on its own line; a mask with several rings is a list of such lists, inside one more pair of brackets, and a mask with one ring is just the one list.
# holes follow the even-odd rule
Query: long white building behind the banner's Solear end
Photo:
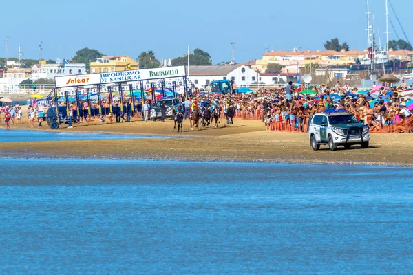
[[33, 81], [39, 78], [52, 78], [55, 76], [69, 76], [76, 74], [87, 74], [86, 64], [84, 63], [73, 63], [73, 64], [37, 64], [32, 67], [32, 76], [30, 77]]

